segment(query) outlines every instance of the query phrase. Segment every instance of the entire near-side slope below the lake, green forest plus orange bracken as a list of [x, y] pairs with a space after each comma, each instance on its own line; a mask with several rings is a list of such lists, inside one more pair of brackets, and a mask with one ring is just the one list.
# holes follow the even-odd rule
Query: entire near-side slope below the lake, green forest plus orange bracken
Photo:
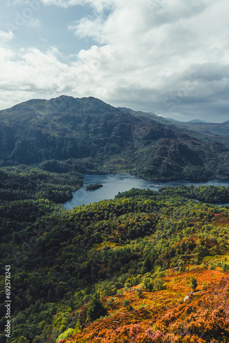
[[12, 343], [229, 340], [229, 209], [205, 203], [227, 187], [131, 189], [69, 211], [43, 196], [0, 204], [0, 342], [5, 265]]

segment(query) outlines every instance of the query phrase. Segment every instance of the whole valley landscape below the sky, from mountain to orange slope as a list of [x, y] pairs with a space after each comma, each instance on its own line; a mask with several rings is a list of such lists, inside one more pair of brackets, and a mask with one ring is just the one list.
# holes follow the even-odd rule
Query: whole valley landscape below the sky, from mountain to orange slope
[[227, 125], [1, 110], [0, 343], [229, 342]]

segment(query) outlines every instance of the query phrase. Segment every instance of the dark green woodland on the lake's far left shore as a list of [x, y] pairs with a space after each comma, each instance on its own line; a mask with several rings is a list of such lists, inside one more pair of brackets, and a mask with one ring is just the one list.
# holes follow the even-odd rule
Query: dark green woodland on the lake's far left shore
[[58, 174], [21, 166], [0, 168], [0, 175], [0, 202], [40, 198], [64, 202], [82, 186], [77, 171]]

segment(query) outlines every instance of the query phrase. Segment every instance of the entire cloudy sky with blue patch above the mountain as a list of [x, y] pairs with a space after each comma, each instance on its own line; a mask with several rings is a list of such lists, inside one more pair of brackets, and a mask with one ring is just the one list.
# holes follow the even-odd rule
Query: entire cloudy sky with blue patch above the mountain
[[64, 94], [229, 120], [228, 13], [228, 0], [1, 1], [0, 109]]

